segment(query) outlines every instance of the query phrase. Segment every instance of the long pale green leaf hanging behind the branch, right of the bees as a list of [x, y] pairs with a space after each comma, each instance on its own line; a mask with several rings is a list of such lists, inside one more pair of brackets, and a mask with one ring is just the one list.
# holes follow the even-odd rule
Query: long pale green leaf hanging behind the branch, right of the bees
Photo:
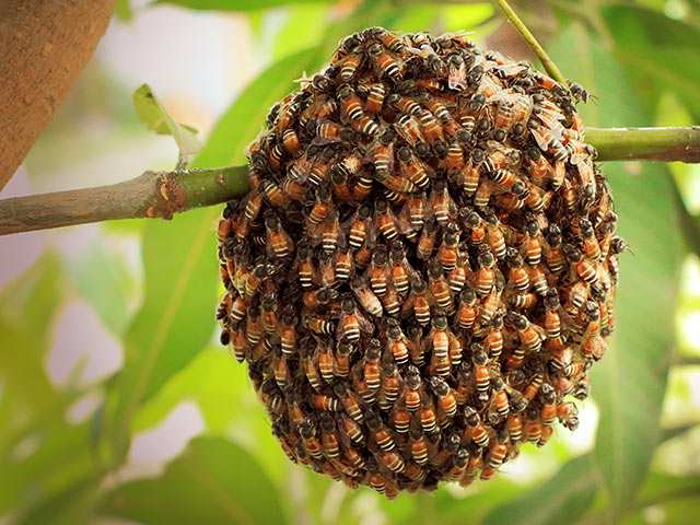
[[[586, 124], [644, 122], [623, 70], [581, 26], [570, 26], [551, 51], [569, 77], [599, 97], [582, 109]], [[619, 233], [634, 250], [621, 256], [616, 332], [592, 372], [600, 409], [595, 457], [619, 514], [633, 501], [661, 435], [681, 242], [666, 166], [608, 163], [604, 171], [615, 196]]]

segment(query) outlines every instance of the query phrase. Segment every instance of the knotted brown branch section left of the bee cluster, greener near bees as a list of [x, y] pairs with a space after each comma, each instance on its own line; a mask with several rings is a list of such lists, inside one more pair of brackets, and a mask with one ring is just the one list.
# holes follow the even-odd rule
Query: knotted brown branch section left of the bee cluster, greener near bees
[[245, 166], [145, 172], [109, 186], [0, 200], [0, 235], [114, 219], [171, 219], [245, 191]]

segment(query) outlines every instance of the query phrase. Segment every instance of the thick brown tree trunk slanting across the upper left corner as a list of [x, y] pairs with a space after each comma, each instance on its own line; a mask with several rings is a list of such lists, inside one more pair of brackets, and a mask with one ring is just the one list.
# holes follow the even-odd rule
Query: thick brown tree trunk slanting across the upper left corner
[[78, 80], [113, 9], [114, 0], [0, 1], [0, 189]]

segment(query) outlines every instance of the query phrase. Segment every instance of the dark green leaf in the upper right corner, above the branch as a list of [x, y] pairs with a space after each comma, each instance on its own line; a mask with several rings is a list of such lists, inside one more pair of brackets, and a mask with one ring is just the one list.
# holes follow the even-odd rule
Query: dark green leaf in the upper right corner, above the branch
[[700, 115], [700, 31], [663, 12], [611, 5], [603, 10], [615, 38], [616, 55], [637, 85], [653, 88], [655, 97], [670, 91]]

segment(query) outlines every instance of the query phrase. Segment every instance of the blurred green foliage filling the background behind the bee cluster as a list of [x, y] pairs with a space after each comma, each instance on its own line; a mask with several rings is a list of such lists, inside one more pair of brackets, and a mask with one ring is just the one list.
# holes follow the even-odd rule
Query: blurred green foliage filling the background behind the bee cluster
[[[467, 30], [482, 45], [525, 52], [488, 2], [154, 3], [245, 18], [252, 45], [264, 49], [256, 55], [259, 74], [220, 116], [195, 160], [199, 166], [243, 162], [268, 107], [295, 79], [319, 68], [342, 35], [365, 26]], [[596, 95], [582, 108], [588, 125], [700, 121], [697, 0], [513, 4], [564, 74]], [[158, 9], [120, 0], [115, 24], [136, 23]], [[231, 60], [241, 59], [231, 49]], [[75, 115], [88, 109], [109, 116], [124, 137], [151, 140], [138, 135], [128, 106], [133, 88], [108, 73], [89, 73], [80, 96], [49, 130], [51, 140], [35, 149], [30, 173], [51, 163], [68, 143], [65, 137], [72, 133], [77, 142]], [[138, 149], [130, 154], [138, 159]], [[696, 523], [700, 223], [693, 212], [700, 170], [608, 163], [605, 172], [633, 254], [621, 261], [618, 329], [595, 368], [582, 428], [573, 436], [558, 433], [542, 450], [526, 445], [488, 483], [392, 502], [292, 466], [244, 369], [218, 346], [219, 209], [172, 222], [104, 224], [79, 256], [45, 247], [0, 290], [0, 516], [7, 520], [0, 523]], [[114, 249], [120, 243], [136, 246], [136, 264]], [[78, 360], [57, 382], [46, 362], [62, 305], [75, 296], [120, 341], [122, 366], [85, 382], [85, 363]], [[183, 402], [201, 417], [197, 435], [160, 471], [126, 475], [135, 440], [162, 427]], [[82, 415], [71, 416], [79, 406]]]

